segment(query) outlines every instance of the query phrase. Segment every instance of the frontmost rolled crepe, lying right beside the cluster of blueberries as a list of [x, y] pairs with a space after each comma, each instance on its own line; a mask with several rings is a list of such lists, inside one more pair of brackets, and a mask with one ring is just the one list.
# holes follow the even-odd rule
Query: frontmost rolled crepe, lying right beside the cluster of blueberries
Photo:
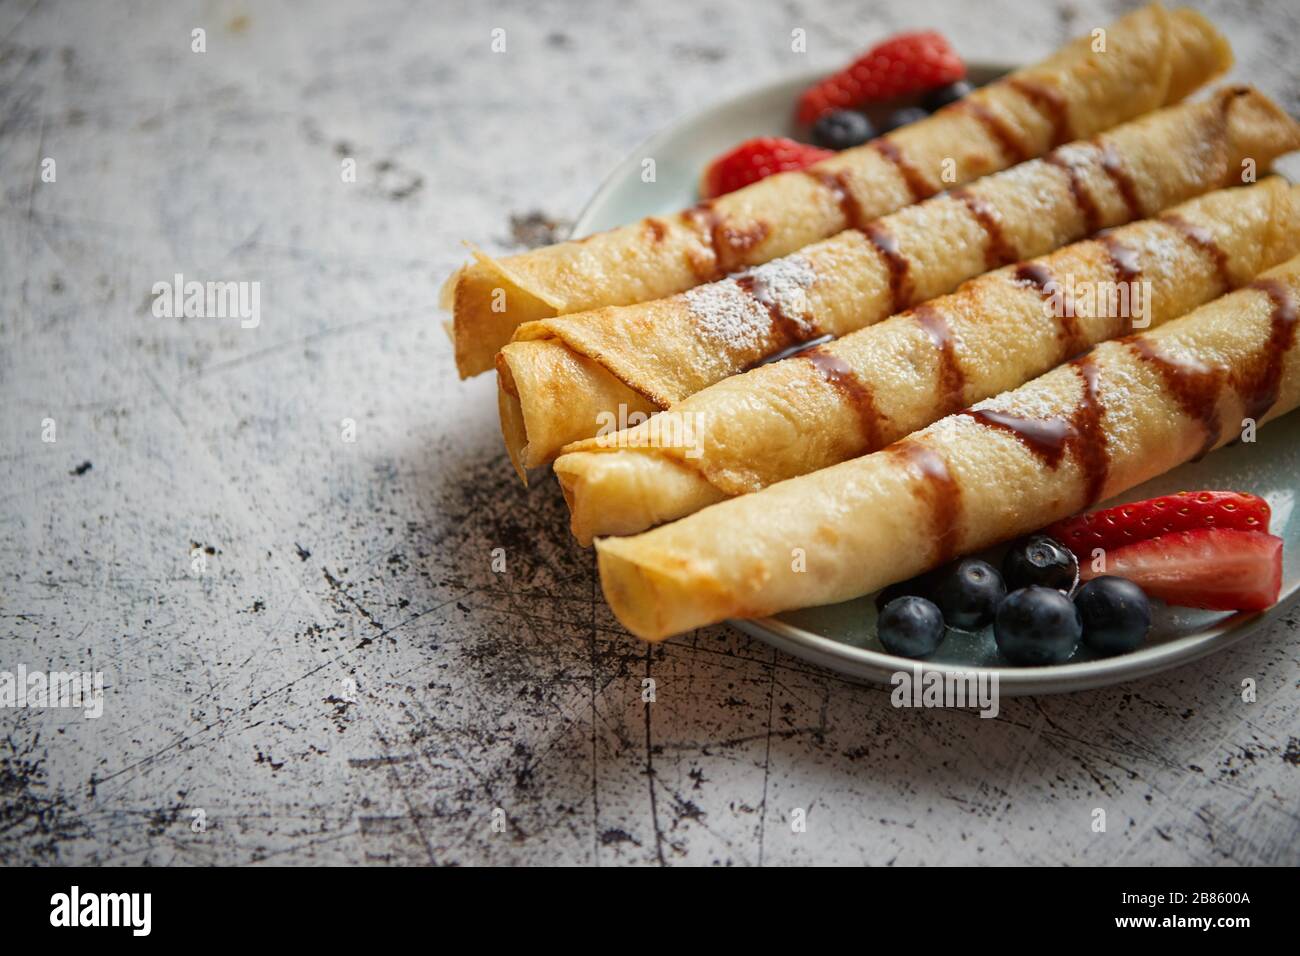
[[597, 541], [619, 620], [659, 640], [845, 601], [1041, 528], [1300, 403], [1300, 258], [852, 462]]

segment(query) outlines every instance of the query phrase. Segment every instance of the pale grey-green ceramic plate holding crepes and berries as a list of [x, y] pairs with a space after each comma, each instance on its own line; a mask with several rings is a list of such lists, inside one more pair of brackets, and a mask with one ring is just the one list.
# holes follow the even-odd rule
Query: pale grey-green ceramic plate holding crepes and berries
[[[1005, 66], [971, 69], [975, 82], [988, 82]], [[710, 107], [642, 143], [604, 181], [575, 225], [588, 235], [642, 216], [675, 212], [697, 200], [696, 183], [705, 165], [742, 139], [794, 135], [790, 113], [798, 94], [818, 74], [783, 79]], [[655, 163], [655, 182], [642, 181], [644, 160]], [[1236, 445], [1186, 464], [1115, 498], [1136, 501], [1183, 489], [1231, 488], [1253, 492], [1273, 506], [1273, 532], [1286, 541], [1282, 600], [1262, 614], [1210, 614], [1162, 607], [1156, 627], [1138, 652], [1095, 658], [1080, 648], [1056, 667], [1015, 667], [997, 653], [989, 631], [949, 632], [939, 652], [919, 662], [923, 670], [996, 671], [1001, 693], [1054, 693], [1101, 687], [1156, 674], [1222, 650], [1271, 622], [1300, 592], [1300, 527], [1294, 509], [1300, 493], [1300, 415], [1287, 415], [1258, 432], [1252, 445]], [[996, 554], [996, 551], [994, 551]], [[809, 607], [762, 620], [734, 620], [734, 627], [781, 650], [829, 667], [849, 678], [888, 683], [918, 662], [885, 653], [876, 639], [875, 594], [826, 607]]]

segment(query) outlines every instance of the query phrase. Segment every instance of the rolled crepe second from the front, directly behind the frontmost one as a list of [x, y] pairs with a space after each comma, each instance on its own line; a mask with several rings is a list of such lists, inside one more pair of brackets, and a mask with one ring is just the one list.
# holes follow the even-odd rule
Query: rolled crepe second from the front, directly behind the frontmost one
[[1300, 187], [1210, 193], [991, 272], [829, 345], [571, 446], [573, 533], [630, 535], [875, 451], [1106, 338], [1160, 325], [1300, 254]]

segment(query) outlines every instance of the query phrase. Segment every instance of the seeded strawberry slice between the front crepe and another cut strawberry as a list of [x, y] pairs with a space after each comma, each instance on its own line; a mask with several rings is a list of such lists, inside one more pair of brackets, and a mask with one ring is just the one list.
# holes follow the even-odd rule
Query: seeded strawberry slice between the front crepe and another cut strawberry
[[1269, 529], [1269, 502], [1244, 492], [1179, 492], [1057, 522], [1046, 533], [1080, 562], [1095, 548], [1110, 550], [1171, 531], [1195, 528]]

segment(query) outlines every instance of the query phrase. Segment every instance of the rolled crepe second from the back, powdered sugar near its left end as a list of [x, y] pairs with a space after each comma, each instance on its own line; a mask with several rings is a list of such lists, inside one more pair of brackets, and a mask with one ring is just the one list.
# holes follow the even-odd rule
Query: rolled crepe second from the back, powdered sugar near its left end
[[1266, 96], [1219, 90], [731, 278], [521, 325], [497, 356], [511, 460], [523, 476], [620, 406], [621, 418], [668, 407], [790, 345], [1238, 181], [1244, 160], [1266, 165], [1297, 142]]

